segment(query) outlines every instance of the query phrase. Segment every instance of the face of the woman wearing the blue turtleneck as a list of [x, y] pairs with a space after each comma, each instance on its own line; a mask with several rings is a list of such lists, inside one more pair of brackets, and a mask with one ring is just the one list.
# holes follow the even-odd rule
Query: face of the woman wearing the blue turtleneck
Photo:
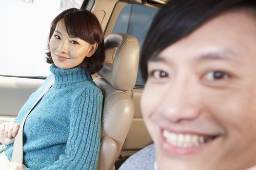
[[58, 68], [74, 68], [90, 57], [97, 44], [89, 44], [79, 37], [69, 36], [62, 20], [57, 24], [50, 39], [50, 51], [54, 64]]

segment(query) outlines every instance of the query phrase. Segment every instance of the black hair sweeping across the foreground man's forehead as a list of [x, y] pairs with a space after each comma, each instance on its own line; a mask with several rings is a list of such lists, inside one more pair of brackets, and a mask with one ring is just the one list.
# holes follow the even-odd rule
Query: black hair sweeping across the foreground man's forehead
[[144, 41], [139, 62], [143, 80], [148, 78], [150, 59], [212, 17], [236, 8], [255, 11], [256, 0], [170, 0], [158, 11]]

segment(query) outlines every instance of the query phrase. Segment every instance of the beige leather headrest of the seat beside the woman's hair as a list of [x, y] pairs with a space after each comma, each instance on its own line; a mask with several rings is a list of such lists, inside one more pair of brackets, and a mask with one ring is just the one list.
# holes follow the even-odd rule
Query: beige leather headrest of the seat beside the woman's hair
[[138, 40], [128, 34], [110, 34], [105, 38], [106, 59], [98, 74], [119, 90], [130, 90], [138, 73]]

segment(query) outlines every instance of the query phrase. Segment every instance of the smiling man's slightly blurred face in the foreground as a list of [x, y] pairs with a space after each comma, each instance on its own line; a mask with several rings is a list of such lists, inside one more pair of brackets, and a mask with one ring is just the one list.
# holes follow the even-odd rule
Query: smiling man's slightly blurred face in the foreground
[[256, 20], [224, 13], [148, 62], [141, 98], [159, 170], [256, 165]]

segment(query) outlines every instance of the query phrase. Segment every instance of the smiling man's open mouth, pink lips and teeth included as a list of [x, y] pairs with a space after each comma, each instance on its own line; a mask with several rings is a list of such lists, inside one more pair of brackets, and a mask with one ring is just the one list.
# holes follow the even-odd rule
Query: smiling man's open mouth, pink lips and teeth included
[[162, 148], [167, 153], [175, 155], [189, 155], [199, 152], [217, 136], [197, 135], [190, 133], [174, 133], [162, 130]]

